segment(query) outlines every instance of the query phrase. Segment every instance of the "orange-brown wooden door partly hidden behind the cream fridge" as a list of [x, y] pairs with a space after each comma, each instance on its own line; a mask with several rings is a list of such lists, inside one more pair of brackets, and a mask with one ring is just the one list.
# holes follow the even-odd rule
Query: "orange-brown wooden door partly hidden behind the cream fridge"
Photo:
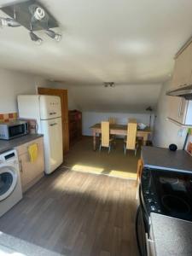
[[50, 95], [50, 96], [60, 96], [60, 98], [61, 98], [63, 154], [65, 154], [69, 150], [67, 90], [40, 88], [39, 87], [38, 94]]

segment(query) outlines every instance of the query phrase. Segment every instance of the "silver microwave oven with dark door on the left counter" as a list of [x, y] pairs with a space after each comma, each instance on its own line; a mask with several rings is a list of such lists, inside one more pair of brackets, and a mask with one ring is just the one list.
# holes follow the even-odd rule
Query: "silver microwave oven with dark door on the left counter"
[[14, 120], [0, 123], [0, 139], [10, 140], [28, 133], [26, 121]]

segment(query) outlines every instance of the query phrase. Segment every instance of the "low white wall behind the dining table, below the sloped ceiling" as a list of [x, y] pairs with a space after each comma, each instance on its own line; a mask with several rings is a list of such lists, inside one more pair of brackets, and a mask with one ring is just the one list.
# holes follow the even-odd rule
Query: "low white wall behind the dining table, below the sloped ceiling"
[[115, 117], [119, 125], [126, 125], [129, 118], [137, 119], [138, 123], [149, 124], [148, 113], [100, 113], [83, 112], [83, 135], [90, 136], [90, 126], [101, 121], [108, 120], [109, 117]]

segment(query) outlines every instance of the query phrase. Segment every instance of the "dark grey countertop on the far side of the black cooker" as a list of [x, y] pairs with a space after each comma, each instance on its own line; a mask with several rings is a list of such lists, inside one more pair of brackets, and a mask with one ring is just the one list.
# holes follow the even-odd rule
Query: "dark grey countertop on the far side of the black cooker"
[[192, 172], [192, 157], [184, 150], [143, 146], [142, 158], [145, 167]]

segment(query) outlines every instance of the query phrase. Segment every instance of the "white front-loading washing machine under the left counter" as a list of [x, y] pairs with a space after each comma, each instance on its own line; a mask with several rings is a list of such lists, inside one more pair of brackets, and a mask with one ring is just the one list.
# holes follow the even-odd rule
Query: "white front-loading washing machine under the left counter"
[[13, 149], [0, 154], [0, 217], [21, 199], [19, 160]]

